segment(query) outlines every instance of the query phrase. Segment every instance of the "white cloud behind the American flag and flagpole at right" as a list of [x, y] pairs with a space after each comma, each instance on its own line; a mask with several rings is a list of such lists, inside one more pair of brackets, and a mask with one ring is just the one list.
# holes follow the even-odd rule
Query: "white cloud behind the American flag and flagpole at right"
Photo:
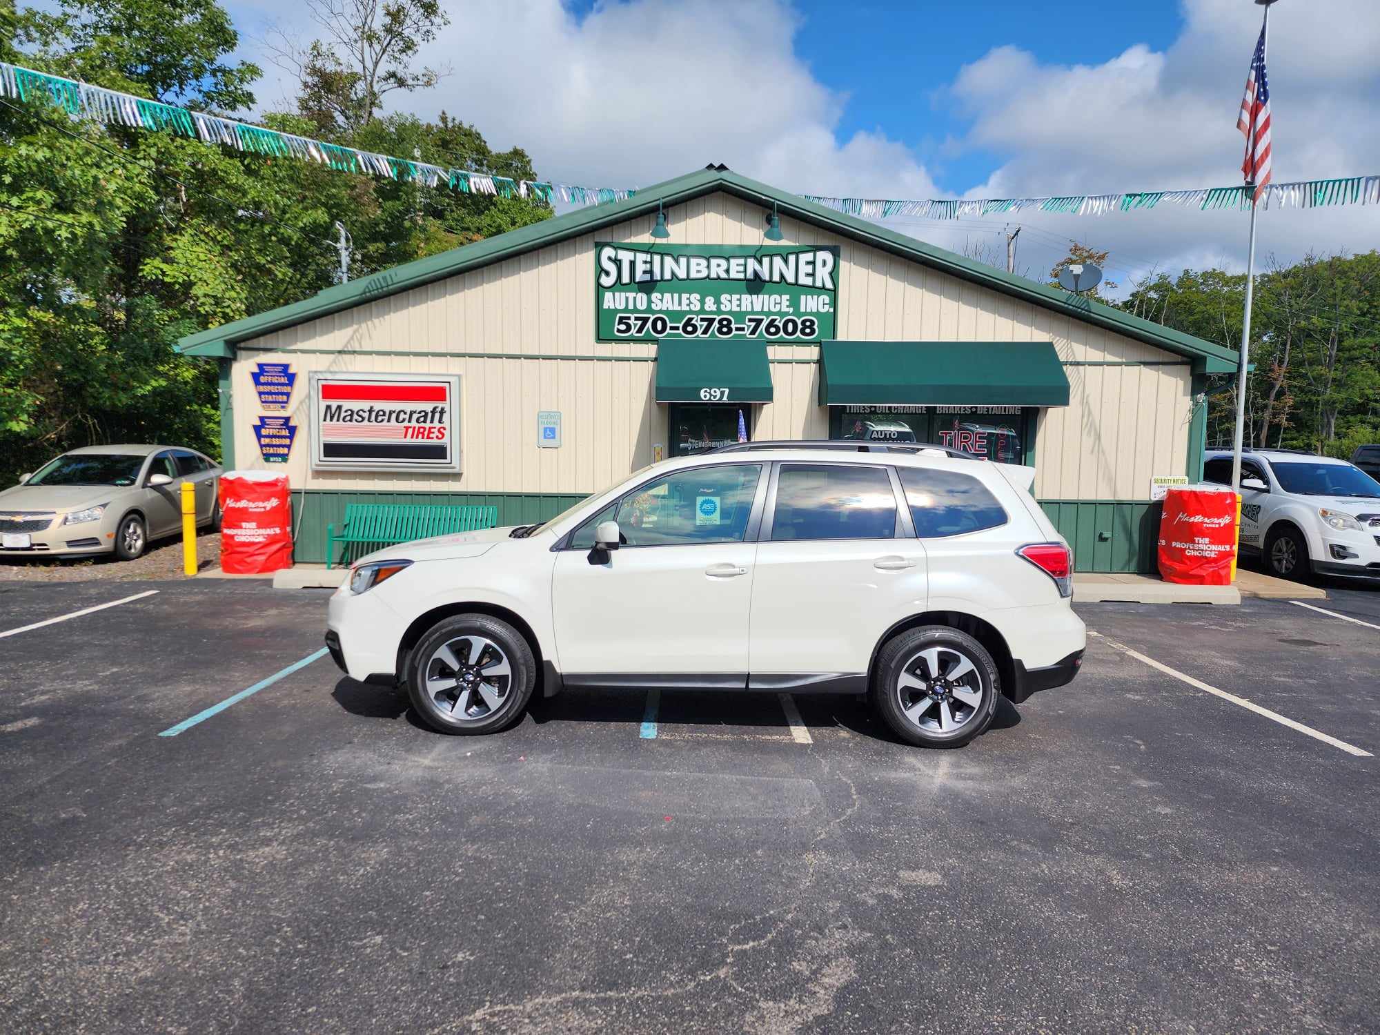
[[[1321, 17], [1323, 15], [1325, 17]], [[1163, 52], [1145, 46], [1100, 65], [1049, 65], [996, 47], [965, 66], [951, 95], [972, 117], [962, 142], [1009, 156], [970, 197], [1101, 193], [1239, 182], [1235, 128], [1260, 8], [1185, 0], [1187, 25]], [[1380, 172], [1380, 4], [1281, 4], [1271, 14], [1274, 179]], [[1078, 235], [1133, 273], [1206, 261], [1245, 266], [1243, 214], [1159, 207], [1101, 218], [1027, 217], [1046, 233]], [[1271, 210], [1259, 251], [1369, 250], [1380, 208]], [[1118, 259], [1118, 255], [1122, 258]], [[1134, 257], [1134, 258], [1132, 258]]]

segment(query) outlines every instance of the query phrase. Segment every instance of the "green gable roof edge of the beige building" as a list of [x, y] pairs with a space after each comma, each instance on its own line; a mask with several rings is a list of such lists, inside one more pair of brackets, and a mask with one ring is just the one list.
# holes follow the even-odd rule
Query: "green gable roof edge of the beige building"
[[669, 207], [716, 190], [723, 190], [724, 193], [759, 204], [774, 203], [782, 215], [789, 215], [800, 222], [850, 237], [923, 266], [981, 284], [994, 291], [1000, 291], [1023, 302], [1032, 302], [1045, 309], [1052, 309], [1118, 334], [1125, 334], [1127, 338], [1187, 356], [1195, 362], [1195, 368], [1199, 373], [1235, 373], [1236, 370], [1235, 349], [1223, 348], [1210, 341], [1195, 338], [1191, 334], [1162, 327], [1158, 323], [1151, 323], [1140, 316], [1133, 316], [1101, 302], [1093, 302], [1063, 288], [1038, 284], [1034, 280], [1006, 273], [983, 262], [915, 240], [904, 233], [878, 226], [856, 215], [845, 215], [832, 208], [825, 208], [821, 204], [805, 200], [799, 195], [740, 177], [737, 172], [724, 168], [700, 170], [684, 177], [678, 177], [676, 179], [668, 179], [665, 184], [644, 188], [624, 201], [581, 208], [566, 215], [558, 215], [552, 219], [544, 219], [530, 226], [501, 233], [497, 237], [487, 237], [475, 244], [443, 251], [439, 255], [404, 262], [400, 266], [384, 269], [346, 284], [337, 284], [301, 302], [269, 309], [257, 316], [246, 316], [243, 320], [235, 320], [233, 323], [199, 331], [197, 334], [189, 334], [178, 342], [177, 348], [179, 352], [190, 356], [232, 357], [237, 342], [328, 316], [342, 309], [352, 309], [353, 306], [386, 298], [400, 291], [410, 291], [435, 280], [453, 277], [471, 269], [513, 258], [526, 251], [544, 248], [556, 241], [591, 233], [603, 226], [625, 222], [642, 215], [651, 215], [657, 211], [658, 204]]

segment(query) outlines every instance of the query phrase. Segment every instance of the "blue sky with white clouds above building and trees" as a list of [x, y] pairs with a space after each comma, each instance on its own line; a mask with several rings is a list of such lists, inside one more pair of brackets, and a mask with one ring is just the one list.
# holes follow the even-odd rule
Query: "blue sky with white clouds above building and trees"
[[[586, 186], [661, 182], [707, 161], [800, 193], [1016, 197], [1238, 182], [1235, 112], [1260, 26], [1250, 0], [1035, 4], [967, 0], [443, 0], [424, 51], [448, 66], [392, 103], [526, 148], [538, 174]], [[241, 52], [294, 84], [261, 40], [316, 30], [299, 4], [233, 0]], [[1380, 172], [1380, 0], [1272, 8], [1275, 179]], [[1380, 206], [1274, 210], [1260, 254], [1380, 246]], [[1005, 253], [1006, 221], [889, 221], [954, 250]], [[1043, 276], [1070, 239], [1111, 248], [1123, 284], [1245, 265], [1245, 218], [1165, 207], [1023, 213], [1018, 269]]]

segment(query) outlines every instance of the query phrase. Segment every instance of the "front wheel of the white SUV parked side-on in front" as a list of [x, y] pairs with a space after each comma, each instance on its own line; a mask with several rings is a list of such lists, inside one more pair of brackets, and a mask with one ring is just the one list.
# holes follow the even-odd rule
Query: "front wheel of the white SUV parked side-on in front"
[[[482, 676], [473, 683], [464, 682], [466, 669], [476, 669], [471, 675], [477, 675], [486, 667], [494, 668], [500, 664], [493, 660], [494, 653], [486, 649], [482, 649], [475, 658], [468, 657], [477, 639], [497, 646], [502, 662], [506, 662], [509, 669], [505, 686], [501, 684], [501, 676], [493, 682]], [[454, 668], [437, 657], [443, 647], [451, 646], [457, 640], [465, 640], [465, 643], [458, 647], [453, 646], [451, 657], [461, 662], [477, 661], [477, 665], [462, 664]], [[437, 691], [436, 687], [450, 682], [448, 673], [454, 673], [455, 686]], [[457, 614], [453, 618], [439, 621], [417, 643], [407, 658], [406, 682], [408, 701], [433, 730], [465, 736], [498, 733], [518, 722], [527, 709], [533, 689], [537, 686], [537, 660], [531, 653], [531, 644], [508, 622], [487, 614]], [[484, 690], [490, 691], [487, 697], [480, 689], [480, 683]], [[464, 701], [461, 701], [462, 687], [469, 694]], [[490, 707], [489, 701], [494, 697], [498, 698], [498, 705]], [[455, 715], [453, 709], [466, 702], [475, 715]], [[451, 711], [447, 711], [447, 705]], [[486, 711], [480, 713], [482, 708]]]

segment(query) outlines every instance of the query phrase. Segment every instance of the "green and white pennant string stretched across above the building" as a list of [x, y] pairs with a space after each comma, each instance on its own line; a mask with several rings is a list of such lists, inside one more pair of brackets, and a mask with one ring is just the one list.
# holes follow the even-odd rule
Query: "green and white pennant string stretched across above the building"
[[[21, 65], [0, 61], [0, 97], [29, 101], [44, 97], [61, 106], [69, 116], [94, 119], [99, 123], [128, 126], [144, 130], [163, 130], [203, 144], [221, 144], [236, 150], [248, 150], [270, 157], [293, 157], [316, 161], [345, 172], [367, 172], [389, 179], [415, 181], [431, 188], [447, 188], [462, 195], [491, 195], [497, 197], [535, 197], [542, 201], [562, 201], [573, 206], [606, 204], [632, 197], [636, 190], [615, 188], [577, 186], [548, 181], [511, 179], [489, 172], [446, 168], [425, 161], [396, 159], [339, 144], [279, 132], [262, 126], [251, 126], [235, 119], [222, 119], [206, 112], [149, 101], [132, 94], [79, 83], [62, 76], [50, 76]], [[1104, 215], [1155, 208], [1169, 203], [1188, 208], [1249, 208], [1250, 192], [1245, 186], [1214, 186], [1195, 190], [1132, 190], [1112, 195], [1065, 195], [1061, 197], [994, 197], [994, 199], [879, 199], [827, 197], [802, 195], [807, 201], [822, 204], [847, 215], [867, 219], [887, 219], [896, 215], [925, 219], [960, 219], [963, 217], [1005, 215], [1036, 210], [1064, 215]], [[1261, 208], [1315, 208], [1337, 204], [1380, 204], [1380, 175], [1341, 177], [1334, 179], [1304, 179], [1292, 184], [1268, 184], [1256, 192]]]

